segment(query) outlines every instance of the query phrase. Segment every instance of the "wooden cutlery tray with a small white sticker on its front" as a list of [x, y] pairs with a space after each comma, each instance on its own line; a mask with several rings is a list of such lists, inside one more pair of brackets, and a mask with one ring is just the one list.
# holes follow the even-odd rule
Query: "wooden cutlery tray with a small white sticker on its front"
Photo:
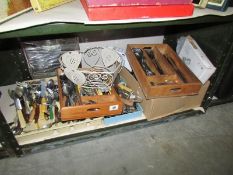
[[[82, 105], [65, 106], [66, 96], [62, 94], [62, 86], [59, 79], [60, 73], [61, 70], [58, 70], [59, 101], [62, 121], [111, 116], [122, 113], [123, 103], [114, 88], [112, 88], [111, 94], [109, 95], [81, 96]], [[95, 103], [85, 104], [90, 100]]]

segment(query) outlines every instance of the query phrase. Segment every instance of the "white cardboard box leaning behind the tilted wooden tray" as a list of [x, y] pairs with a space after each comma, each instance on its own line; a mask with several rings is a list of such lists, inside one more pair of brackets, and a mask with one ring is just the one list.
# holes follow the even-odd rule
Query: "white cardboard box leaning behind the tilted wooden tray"
[[202, 84], [204, 84], [216, 70], [191, 36], [185, 38], [181, 49], [178, 51], [178, 55]]

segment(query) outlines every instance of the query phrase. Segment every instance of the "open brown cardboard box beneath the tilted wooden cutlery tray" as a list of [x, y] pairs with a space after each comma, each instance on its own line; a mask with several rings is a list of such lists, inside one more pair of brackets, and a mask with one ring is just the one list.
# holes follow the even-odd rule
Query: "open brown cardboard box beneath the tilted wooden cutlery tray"
[[145, 98], [137, 80], [126, 69], [122, 69], [121, 75], [124, 77], [127, 85], [143, 99], [141, 106], [143, 108], [143, 113], [148, 120], [154, 120], [200, 107], [210, 84], [210, 82], [207, 81], [201, 87], [197, 95], [155, 98], [148, 100]]

